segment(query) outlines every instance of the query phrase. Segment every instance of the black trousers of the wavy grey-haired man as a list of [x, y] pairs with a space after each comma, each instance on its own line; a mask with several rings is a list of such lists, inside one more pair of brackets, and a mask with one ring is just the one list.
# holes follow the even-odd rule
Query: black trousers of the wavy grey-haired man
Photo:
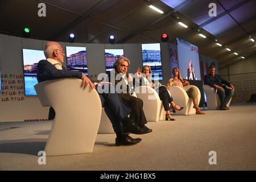
[[119, 97], [125, 102], [131, 109], [131, 117], [134, 118], [138, 126], [143, 126], [147, 123], [146, 116], [143, 111], [143, 101], [140, 98], [130, 96], [127, 93], [119, 94]]

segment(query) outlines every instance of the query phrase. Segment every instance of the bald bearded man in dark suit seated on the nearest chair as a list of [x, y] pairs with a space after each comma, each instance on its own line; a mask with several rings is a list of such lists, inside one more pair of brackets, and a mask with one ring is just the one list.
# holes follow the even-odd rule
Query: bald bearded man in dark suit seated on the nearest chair
[[[68, 78], [75, 77], [82, 80], [81, 89], [85, 86], [90, 85], [92, 89], [96, 86], [90, 81], [88, 77], [82, 72], [72, 72], [67, 71], [63, 67], [65, 53], [63, 48], [59, 43], [48, 42], [44, 47], [44, 55], [46, 60], [40, 60], [38, 63], [38, 82], [52, 80], [57, 78]], [[99, 84], [100, 85], [100, 84]], [[109, 86], [109, 85], [108, 85]], [[78, 88], [79, 89], [79, 88]], [[130, 118], [131, 110], [117, 93], [101, 93], [101, 101], [104, 101], [105, 112], [108, 115], [110, 121], [112, 122], [113, 129], [117, 138], [115, 139], [115, 144], [120, 145], [130, 145], [141, 142], [141, 138], [131, 138], [129, 133], [133, 134], [145, 134], [141, 128], [134, 124], [133, 118]], [[90, 103], [85, 103], [90, 104]], [[99, 111], [101, 114], [101, 111]], [[55, 111], [51, 107], [49, 111], [49, 118], [55, 117]], [[85, 121], [86, 122], [86, 121]]]

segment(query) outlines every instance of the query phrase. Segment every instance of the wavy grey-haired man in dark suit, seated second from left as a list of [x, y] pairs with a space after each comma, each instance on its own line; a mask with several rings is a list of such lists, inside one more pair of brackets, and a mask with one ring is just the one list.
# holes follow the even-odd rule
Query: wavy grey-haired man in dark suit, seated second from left
[[[131, 88], [133, 85], [133, 77], [129, 77], [128, 75], [129, 66], [129, 59], [123, 56], [119, 57], [113, 65], [114, 69], [110, 72], [110, 80], [113, 82], [113, 85], [115, 85], [115, 91], [130, 107], [131, 117], [135, 120], [135, 123], [146, 133], [150, 133], [152, 130], [145, 126], [147, 120], [142, 109], [143, 101], [140, 98], [131, 96], [134, 90]], [[131, 82], [131, 84], [129, 84], [129, 82]]]

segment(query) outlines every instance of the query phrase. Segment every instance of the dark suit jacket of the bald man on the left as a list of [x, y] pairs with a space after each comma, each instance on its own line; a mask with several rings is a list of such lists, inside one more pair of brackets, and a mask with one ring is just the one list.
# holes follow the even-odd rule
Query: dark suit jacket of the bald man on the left
[[63, 70], [57, 69], [53, 64], [49, 63], [47, 60], [40, 60], [38, 63], [38, 82], [53, 80], [57, 78], [82, 78], [82, 72], [72, 72], [67, 71], [65, 67], [62, 66]]

